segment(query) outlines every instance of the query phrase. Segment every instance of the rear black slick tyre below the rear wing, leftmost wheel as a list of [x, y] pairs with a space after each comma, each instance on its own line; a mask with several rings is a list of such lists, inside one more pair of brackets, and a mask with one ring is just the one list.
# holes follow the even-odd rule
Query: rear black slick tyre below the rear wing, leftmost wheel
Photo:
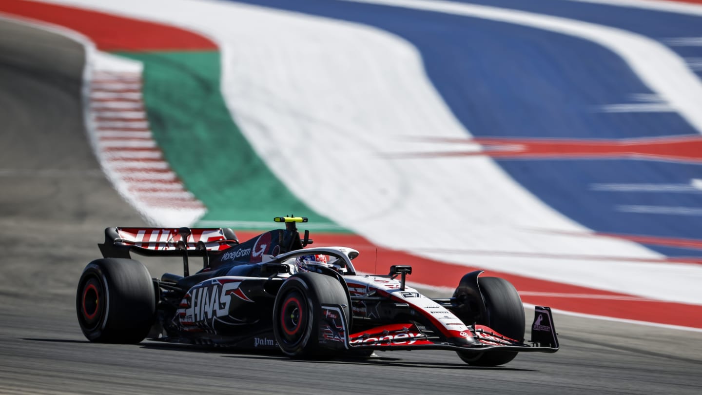
[[78, 282], [76, 311], [81, 330], [91, 342], [141, 342], [156, 311], [149, 271], [133, 259], [92, 261]]

